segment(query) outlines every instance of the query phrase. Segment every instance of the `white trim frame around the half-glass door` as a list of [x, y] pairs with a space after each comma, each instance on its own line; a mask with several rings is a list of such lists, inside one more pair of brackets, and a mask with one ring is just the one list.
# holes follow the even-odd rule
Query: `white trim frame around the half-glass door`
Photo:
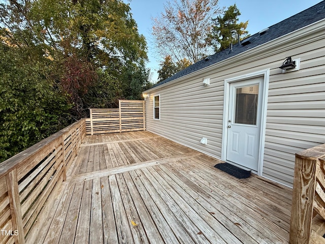
[[246, 75], [241, 75], [224, 80], [224, 94], [223, 94], [223, 121], [222, 121], [222, 144], [221, 144], [221, 160], [226, 161], [227, 139], [228, 139], [228, 117], [229, 117], [229, 92], [230, 83], [247, 80], [254, 77], [264, 77], [263, 91], [262, 91], [262, 113], [261, 113], [261, 133], [259, 136], [258, 148], [258, 170], [257, 175], [261, 176], [263, 173], [263, 159], [264, 159], [264, 146], [265, 146], [265, 131], [266, 131], [266, 114], [268, 106], [268, 93], [269, 93], [269, 77], [270, 69], [261, 70]]

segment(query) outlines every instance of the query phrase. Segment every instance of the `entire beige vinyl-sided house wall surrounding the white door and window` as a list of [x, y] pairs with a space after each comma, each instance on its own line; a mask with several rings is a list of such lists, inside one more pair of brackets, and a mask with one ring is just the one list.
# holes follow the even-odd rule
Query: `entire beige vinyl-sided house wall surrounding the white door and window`
[[[262, 175], [292, 186], [295, 153], [325, 143], [324, 22], [146, 91], [147, 130], [221, 159], [224, 80], [270, 69]], [[287, 56], [301, 59], [299, 71], [278, 68]], [[158, 94], [160, 120], [154, 120]]]

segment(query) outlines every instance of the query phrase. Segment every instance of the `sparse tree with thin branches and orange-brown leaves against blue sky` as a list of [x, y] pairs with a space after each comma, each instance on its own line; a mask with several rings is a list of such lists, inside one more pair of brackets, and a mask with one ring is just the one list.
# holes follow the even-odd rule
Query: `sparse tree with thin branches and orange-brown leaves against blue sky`
[[212, 30], [212, 17], [220, 12], [215, 0], [174, 0], [165, 13], [153, 18], [152, 35], [158, 53], [181, 62], [196, 63], [213, 51], [206, 39]]

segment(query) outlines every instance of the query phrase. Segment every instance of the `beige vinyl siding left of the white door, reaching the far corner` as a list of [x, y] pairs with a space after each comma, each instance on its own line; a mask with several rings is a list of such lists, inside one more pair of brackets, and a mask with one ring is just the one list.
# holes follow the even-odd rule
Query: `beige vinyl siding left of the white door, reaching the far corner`
[[[220, 158], [223, 82], [204, 86], [202, 81], [193, 79], [160, 90], [160, 121], [150, 119], [156, 93], [150, 94], [147, 130]], [[208, 145], [200, 143], [202, 137], [208, 138]]]

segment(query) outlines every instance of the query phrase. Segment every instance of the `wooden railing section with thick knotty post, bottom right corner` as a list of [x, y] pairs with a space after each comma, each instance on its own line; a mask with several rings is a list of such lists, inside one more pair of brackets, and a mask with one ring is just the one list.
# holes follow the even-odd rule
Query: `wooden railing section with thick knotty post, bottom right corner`
[[[290, 244], [325, 243], [325, 144], [296, 154]], [[313, 219], [323, 222], [317, 228]]]

